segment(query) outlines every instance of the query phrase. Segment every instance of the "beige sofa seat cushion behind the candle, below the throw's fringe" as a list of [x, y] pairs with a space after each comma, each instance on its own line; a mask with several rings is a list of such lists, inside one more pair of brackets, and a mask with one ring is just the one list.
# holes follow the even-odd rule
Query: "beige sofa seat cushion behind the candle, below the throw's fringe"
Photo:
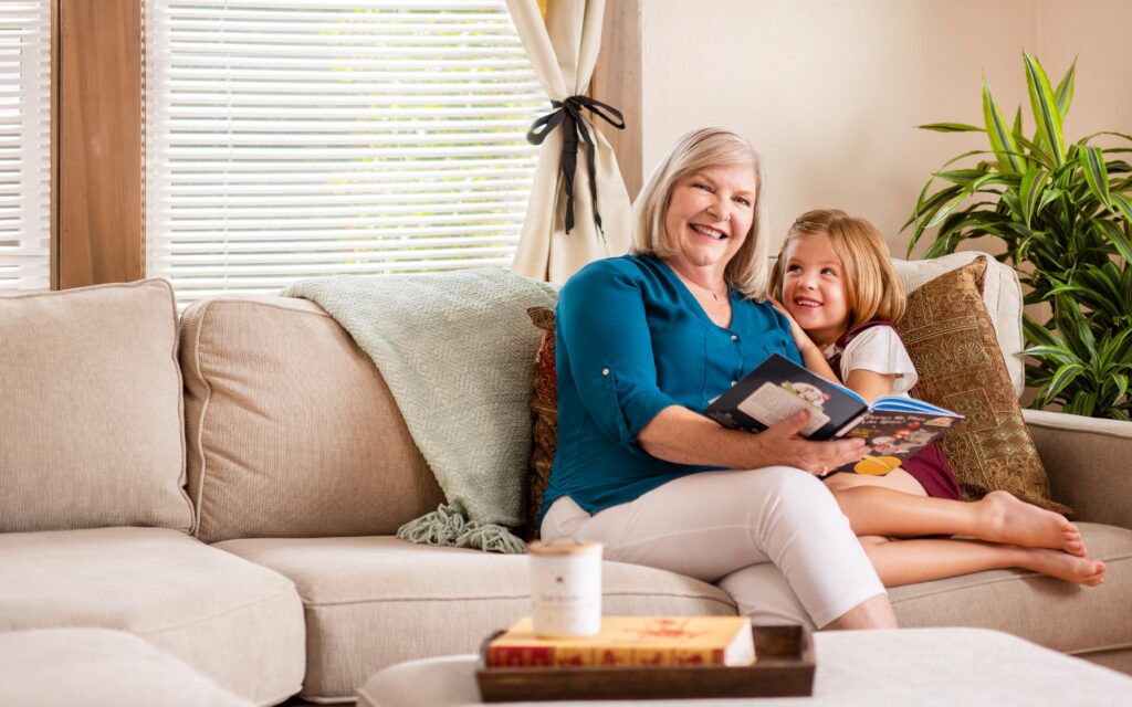
[[[395, 537], [233, 540], [215, 545], [290, 577], [307, 610], [302, 696], [352, 700], [401, 661], [479, 649], [529, 614], [528, 561]], [[721, 589], [672, 572], [607, 562], [612, 614], [735, 614]]]

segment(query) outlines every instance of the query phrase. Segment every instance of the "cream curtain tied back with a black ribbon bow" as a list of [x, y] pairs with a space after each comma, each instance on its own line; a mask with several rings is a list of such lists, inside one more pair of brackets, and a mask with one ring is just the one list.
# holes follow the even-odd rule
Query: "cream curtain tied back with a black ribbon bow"
[[[543, 21], [538, 0], [507, 0], [539, 81], [552, 101], [585, 93], [598, 61], [604, 0], [550, 0]], [[616, 107], [616, 106], [615, 106]], [[619, 256], [632, 241], [629, 197], [600, 121], [582, 111], [594, 141], [598, 212], [604, 235], [594, 223], [585, 141], [578, 138], [574, 171], [574, 226], [566, 233], [566, 184], [561, 173], [564, 123], [542, 143], [531, 188], [531, 202], [512, 269], [534, 279], [564, 283], [582, 266]], [[608, 128], [608, 124], [600, 123]]]

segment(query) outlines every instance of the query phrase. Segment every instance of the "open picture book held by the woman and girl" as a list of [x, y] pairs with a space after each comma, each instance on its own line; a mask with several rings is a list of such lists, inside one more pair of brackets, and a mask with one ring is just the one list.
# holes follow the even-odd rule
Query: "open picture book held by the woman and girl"
[[809, 408], [803, 437], [866, 440], [868, 447], [860, 462], [834, 469], [858, 474], [886, 474], [963, 419], [903, 396], [881, 396], [869, 405], [849, 388], [779, 354], [715, 398], [704, 414], [726, 428], [762, 432], [803, 408]]

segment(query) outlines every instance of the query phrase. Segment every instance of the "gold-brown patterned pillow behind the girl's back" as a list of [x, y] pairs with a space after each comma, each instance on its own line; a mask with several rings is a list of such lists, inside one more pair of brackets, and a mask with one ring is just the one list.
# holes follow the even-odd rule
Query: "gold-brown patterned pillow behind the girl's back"
[[897, 328], [919, 373], [911, 395], [966, 415], [940, 445], [967, 499], [1002, 489], [1069, 516], [1069, 507], [1049, 498], [1046, 469], [1022, 420], [983, 304], [985, 274], [979, 258], [908, 295]]

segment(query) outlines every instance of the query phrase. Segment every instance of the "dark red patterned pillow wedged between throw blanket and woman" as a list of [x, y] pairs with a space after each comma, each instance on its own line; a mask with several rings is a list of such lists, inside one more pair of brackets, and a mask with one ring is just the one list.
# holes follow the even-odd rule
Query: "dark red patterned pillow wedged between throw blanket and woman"
[[526, 313], [534, 326], [543, 330], [539, 352], [534, 356], [534, 397], [531, 398], [534, 443], [531, 446], [531, 465], [526, 475], [526, 540], [533, 541], [539, 538], [534, 519], [542, 507], [542, 494], [547, 490], [558, 442], [558, 374], [555, 370], [555, 310], [532, 307]]

